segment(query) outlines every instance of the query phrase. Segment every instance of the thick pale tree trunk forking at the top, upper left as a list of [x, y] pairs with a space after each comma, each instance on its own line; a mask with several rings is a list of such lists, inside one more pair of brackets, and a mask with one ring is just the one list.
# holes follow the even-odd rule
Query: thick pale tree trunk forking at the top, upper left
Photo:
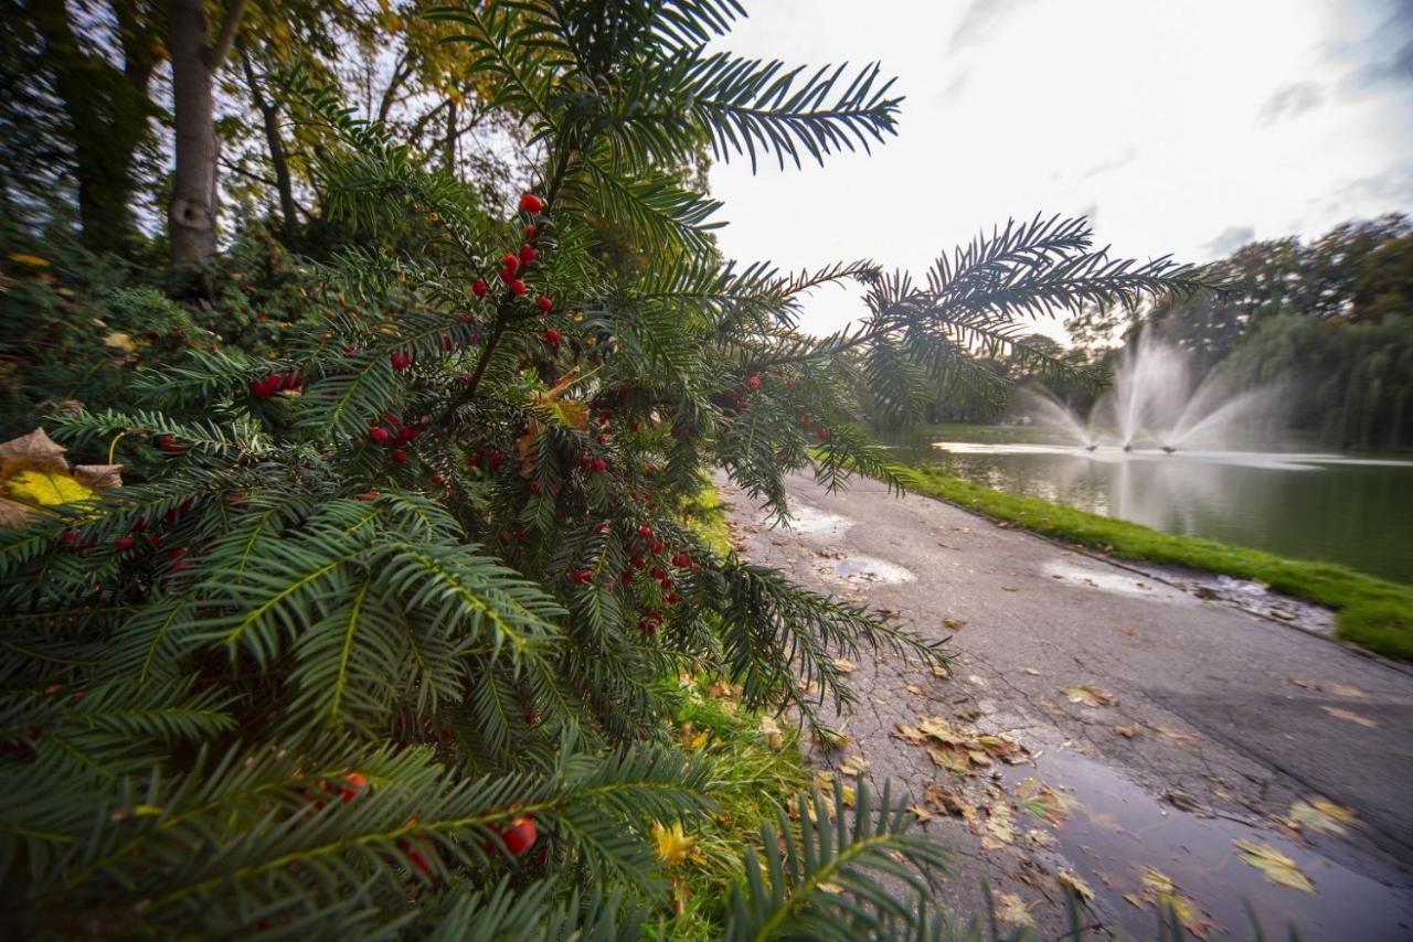
[[177, 168], [167, 210], [172, 264], [194, 266], [216, 254], [216, 140], [215, 82], [244, 13], [246, 0], [233, 0], [216, 45], [202, 0], [168, 0], [167, 28], [172, 56], [172, 120]]

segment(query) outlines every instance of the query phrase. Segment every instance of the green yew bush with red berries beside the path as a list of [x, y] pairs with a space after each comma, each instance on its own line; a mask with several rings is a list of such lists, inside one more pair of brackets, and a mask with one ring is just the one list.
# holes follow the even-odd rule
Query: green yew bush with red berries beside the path
[[[355, 116], [321, 69], [271, 69], [319, 143], [339, 250], [253, 232], [188, 304], [130, 270], [79, 292], [72, 266], [11, 275], [6, 304], [72, 349], [52, 376], [21, 354], [7, 425], [42, 417], [126, 486], [0, 531], [7, 928], [633, 938], [670, 886], [653, 825], [739, 811], [733, 770], [788, 781], [684, 750], [678, 678], [820, 726], [852, 699], [835, 658], [942, 657], [684, 523], [706, 475], [784, 518], [787, 473], [890, 476], [862, 432], [890, 364], [906, 383], [885, 398], [911, 415], [976, 349], [1051, 363], [1019, 316], [1201, 281], [1111, 260], [1075, 220], [978, 239], [924, 285], [723, 261], [716, 205], [685, 182], [704, 150], [824, 160], [899, 109], [877, 66], [708, 54], [738, 14], [437, 11], [462, 79], [521, 129], [519, 212]], [[862, 285], [865, 319], [817, 339], [796, 323], [827, 282]], [[96, 309], [130, 325], [120, 363], [82, 339]], [[834, 791], [832, 818], [815, 795], [733, 849], [732, 907], [702, 910], [719, 935], [937, 924], [941, 856], [906, 802]]]

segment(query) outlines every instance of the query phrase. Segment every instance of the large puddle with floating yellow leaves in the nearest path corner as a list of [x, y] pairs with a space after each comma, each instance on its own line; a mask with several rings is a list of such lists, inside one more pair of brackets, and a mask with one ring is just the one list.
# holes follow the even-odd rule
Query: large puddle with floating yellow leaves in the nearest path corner
[[[1286, 938], [1289, 926], [1306, 939], [1413, 938], [1413, 886], [1386, 886], [1265, 828], [1178, 811], [1113, 768], [1074, 753], [1047, 751], [1036, 765], [1006, 768], [1007, 785], [1015, 791], [1019, 781], [1037, 775], [1075, 798], [1080, 806], [1070, 821], [1047, 828], [1056, 837], [1053, 850], [1135, 938], [1152, 938], [1156, 926], [1152, 905], [1137, 908], [1123, 898], [1143, 897], [1146, 866], [1197, 901], [1214, 924], [1212, 938], [1252, 935], [1248, 905], [1272, 939]], [[1293, 859], [1316, 891], [1269, 883], [1236, 857], [1235, 839], [1269, 845]], [[1392, 867], [1383, 876], [1400, 878]]]

